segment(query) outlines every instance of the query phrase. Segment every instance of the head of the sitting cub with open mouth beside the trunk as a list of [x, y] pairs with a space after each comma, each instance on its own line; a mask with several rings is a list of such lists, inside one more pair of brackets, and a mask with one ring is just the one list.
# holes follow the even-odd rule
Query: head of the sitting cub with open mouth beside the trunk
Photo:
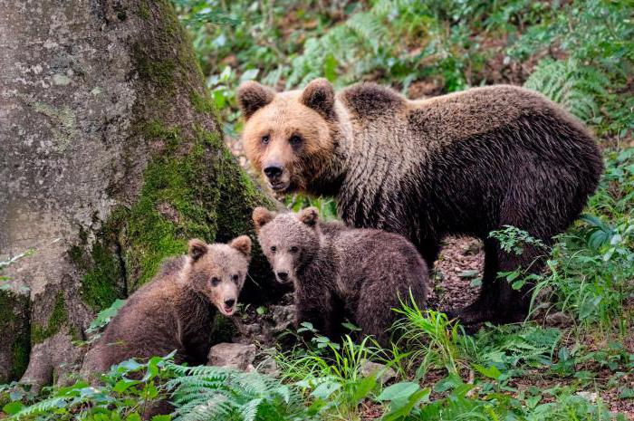
[[245, 284], [250, 259], [251, 239], [246, 235], [229, 244], [189, 240], [187, 282], [194, 291], [207, 297], [218, 311], [231, 316]]

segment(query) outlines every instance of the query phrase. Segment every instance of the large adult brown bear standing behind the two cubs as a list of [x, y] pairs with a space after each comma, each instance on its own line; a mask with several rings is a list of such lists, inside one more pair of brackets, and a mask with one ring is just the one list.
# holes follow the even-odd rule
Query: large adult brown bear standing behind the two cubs
[[[254, 92], [265, 100], [250, 103]], [[602, 170], [578, 120], [513, 86], [407, 100], [371, 83], [335, 96], [322, 79], [279, 94], [250, 82], [238, 99], [250, 110], [247, 157], [275, 190], [337, 196], [344, 222], [407, 236], [429, 265], [445, 235], [481, 238], [483, 288], [456, 313], [466, 323], [524, 318], [528, 287], [516, 292], [496, 274], [543, 266], [539, 250], [506, 254], [488, 234], [514, 225], [551, 244], [580, 214]]]

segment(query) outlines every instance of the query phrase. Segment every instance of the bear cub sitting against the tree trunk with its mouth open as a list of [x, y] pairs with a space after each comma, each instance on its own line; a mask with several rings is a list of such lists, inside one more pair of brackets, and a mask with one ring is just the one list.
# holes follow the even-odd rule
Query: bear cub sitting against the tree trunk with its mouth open
[[229, 244], [189, 241], [189, 252], [168, 259], [134, 292], [86, 355], [82, 372], [103, 373], [125, 359], [149, 359], [176, 349], [177, 363], [207, 363], [218, 312], [231, 316], [245, 282], [251, 239]]

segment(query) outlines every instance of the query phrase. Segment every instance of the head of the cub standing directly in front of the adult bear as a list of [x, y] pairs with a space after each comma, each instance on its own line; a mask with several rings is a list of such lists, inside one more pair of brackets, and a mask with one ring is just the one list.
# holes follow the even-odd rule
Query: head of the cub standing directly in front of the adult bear
[[319, 250], [317, 209], [298, 214], [275, 214], [256, 207], [253, 214], [257, 239], [275, 273], [277, 282], [297, 282], [297, 272], [310, 263]]

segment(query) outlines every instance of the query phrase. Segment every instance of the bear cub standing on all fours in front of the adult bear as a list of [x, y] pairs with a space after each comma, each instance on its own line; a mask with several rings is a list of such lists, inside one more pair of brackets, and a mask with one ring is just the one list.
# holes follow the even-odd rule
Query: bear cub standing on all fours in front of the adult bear
[[379, 344], [400, 301], [409, 292], [419, 307], [427, 295], [427, 265], [416, 247], [398, 234], [353, 229], [318, 221], [317, 209], [299, 214], [254, 210], [258, 241], [278, 282], [293, 282], [295, 324], [304, 321], [337, 340], [349, 319]]

